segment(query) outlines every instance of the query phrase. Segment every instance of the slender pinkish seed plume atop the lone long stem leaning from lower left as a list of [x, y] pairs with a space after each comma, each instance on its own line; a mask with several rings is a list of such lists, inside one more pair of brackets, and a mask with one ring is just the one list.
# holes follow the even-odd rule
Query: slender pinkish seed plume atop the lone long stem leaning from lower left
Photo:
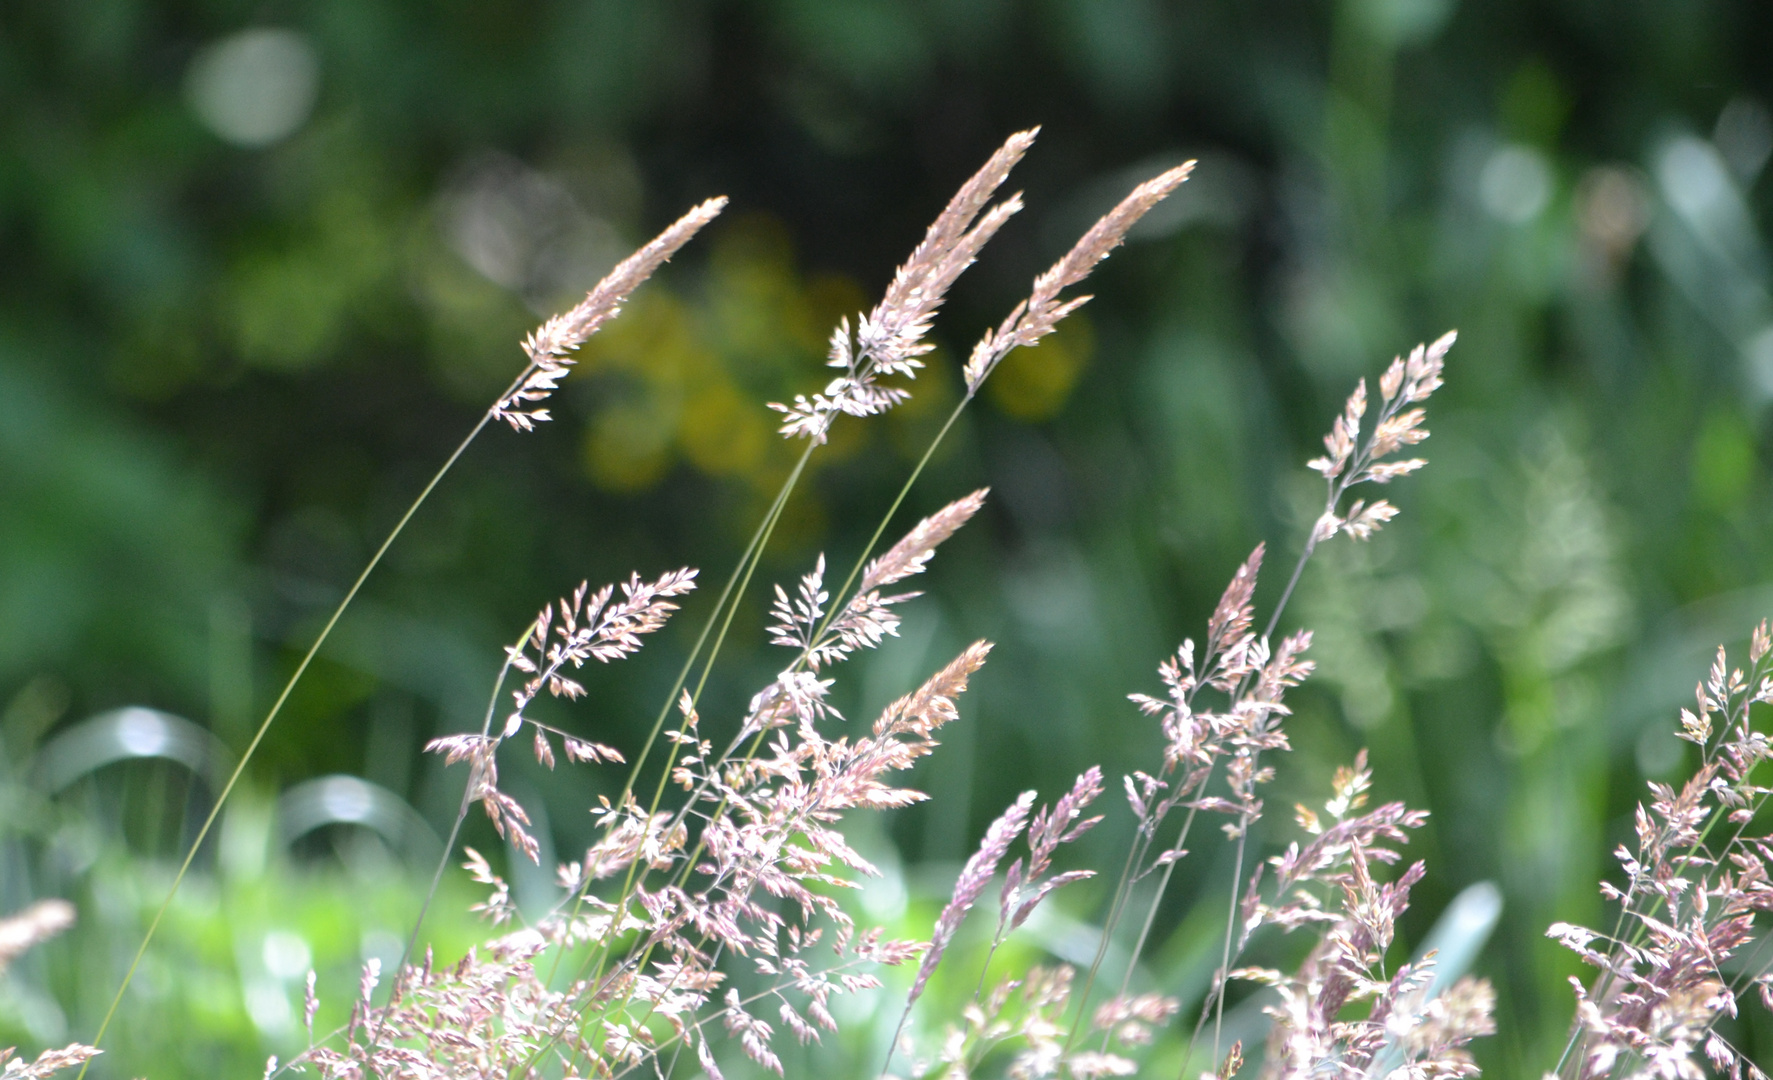
[[617, 262], [615, 270], [585, 293], [585, 300], [537, 326], [523, 342], [530, 365], [493, 404], [493, 417], [511, 424], [512, 431], [532, 431], [535, 424], [548, 420], [548, 410], [530, 406], [548, 401], [560, 380], [573, 371], [573, 351], [621, 314], [628, 296], [725, 207], [725, 195], [693, 207], [644, 248]]

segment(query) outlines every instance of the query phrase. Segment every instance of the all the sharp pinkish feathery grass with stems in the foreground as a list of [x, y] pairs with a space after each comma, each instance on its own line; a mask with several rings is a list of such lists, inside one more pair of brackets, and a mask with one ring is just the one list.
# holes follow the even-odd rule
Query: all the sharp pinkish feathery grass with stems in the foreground
[[[837, 325], [828, 385], [769, 406], [782, 415], [780, 433], [803, 443], [800, 458], [702, 615], [647, 738], [638, 747], [608, 747], [541, 722], [530, 706], [544, 693], [582, 697], [576, 672], [585, 663], [638, 651], [700, 583], [690, 567], [635, 573], [619, 585], [585, 582], [541, 607], [505, 646], [480, 727], [427, 747], [466, 771], [433, 894], [475, 803], [519, 857], [539, 860], [530, 814], [500, 787], [505, 755], [530, 754], [546, 768], [562, 757], [569, 768], [626, 766], [617, 798], [599, 796], [590, 807], [598, 841], [553, 867], [560, 899], [527, 917], [493, 864], [463, 849], [468, 873], [488, 890], [475, 910], [489, 922], [489, 936], [466, 956], [418, 954], [427, 896], [406, 956], [392, 972], [379, 961], [362, 970], [342, 1027], [316, 1030], [319, 998], [309, 977], [309, 1046], [287, 1062], [271, 1059], [268, 1076], [312, 1069], [328, 1080], [613, 1080], [635, 1073], [722, 1080], [738, 1057], [784, 1075], [782, 1039], [807, 1045], [839, 1030], [837, 998], [883, 993], [881, 968], [901, 965], [906, 991], [894, 1009], [892, 1037], [879, 1060], [865, 1064], [883, 1076], [1126, 1076], [1154, 1068], [1147, 1048], [1172, 1025], [1186, 1032], [1179, 1039], [1184, 1076], [1477, 1075], [1468, 1046], [1495, 1030], [1489, 984], [1463, 970], [1440, 972], [1433, 954], [1395, 956], [1397, 922], [1427, 873], [1422, 862], [1404, 858], [1404, 846], [1427, 814], [1402, 803], [1371, 807], [1372, 773], [1360, 752], [1335, 773], [1321, 805], [1294, 807], [1293, 842], [1266, 858], [1252, 849], [1252, 830], [1268, 810], [1275, 755], [1289, 750], [1287, 695], [1314, 670], [1310, 631], [1277, 637], [1282, 617], [1319, 546], [1337, 537], [1365, 541], [1399, 513], [1371, 491], [1425, 465], [1406, 452], [1429, 436], [1425, 408], [1443, 383], [1452, 333], [1395, 358], [1376, 395], [1362, 380], [1333, 419], [1324, 454], [1308, 463], [1324, 482], [1323, 509], [1273, 608], [1261, 615], [1255, 607], [1266, 555], [1259, 544], [1232, 571], [1204, 633], [1158, 665], [1151, 693], [1129, 695], [1151, 725], [1145, 768], [1112, 782], [1099, 766], [1080, 763], [1076, 780], [1057, 798], [1021, 793], [986, 830], [927, 936], [892, 936], [840, 899], [878, 874], [846, 839], [844, 819], [927, 798], [906, 787], [902, 775], [959, 720], [961, 695], [991, 653], [991, 642], [973, 642], [872, 724], [837, 724], [842, 716], [832, 688], [839, 665], [899, 631], [901, 607], [918, 596], [906, 583], [980, 511], [988, 491], [959, 495], [881, 550], [888, 528], [1002, 360], [1051, 333], [1089, 300], [1067, 291], [1188, 177], [1193, 163], [1133, 188], [979, 339], [963, 365], [959, 403], [862, 553], [847, 569], [819, 555], [800, 580], [773, 587], [764, 633], [785, 649], [778, 674], [738, 715], [702, 715], [709, 674], [808, 459], [842, 417], [863, 422], [908, 399], [933, 349], [927, 337], [943, 298], [1021, 209], [1019, 195], [998, 199], [998, 190], [1032, 142], [1034, 131], [1011, 137], [943, 207], [881, 301]], [[523, 342], [528, 364], [521, 374], [420, 493], [339, 612], [475, 436], [495, 420], [519, 433], [546, 422], [546, 401], [569, 372], [574, 349], [722, 206], [716, 199], [690, 211], [617, 266], [583, 303]], [[1617, 924], [1608, 933], [1564, 924], [1550, 931], [1599, 968], [1592, 984], [1574, 988], [1576, 1020], [1564, 1060], [1546, 1062], [1560, 1076], [1674, 1080], [1702, 1075], [1707, 1062], [1732, 1076], [1761, 1076], [1716, 1021], [1734, 1014], [1752, 986], [1762, 1004], [1773, 1004], [1759, 949], [1732, 961], [1753, 940], [1755, 913], [1773, 906], [1766, 867], [1773, 841], [1750, 835], [1769, 793], [1752, 775], [1773, 750], [1750, 722], [1752, 704], [1773, 700], [1768, 654], [1762, 624], [1746, 674], [1727, 670], [1720, 651], [1699, 688], [1697, 711], [1683, 713], [1683, 734], [1700, 747], [1700, 764], [1679, 791], [1652, 786], [1654, 800], [1638, 812], [1638, 848], [1621, 851], [1624, 881], [1603, 885], [1621, 908]], [[266, 715], [241, 768], [307, 660]], [[1117, 793], [1112, 810], [1103, 803], [1110, 789]], [[1092, 961], [1080, 968], [1000, 963], [1000, 956], [1019, 956], [1004, 945], [1055, 890], [1096, 874], [1062, 867], [1074, 862], [1067, 846], [1108, 812], [1131, 816], [1131, 841], [1112, 865]], [[1135, 970], [1177, 867], [1193, 865], [1190, 857], [1215, 833], [1223, 837], [1232, 873], [1229, 888], [1209, 901], [1223, 912], [1223, 927], [1206, 991], [1188, 1002], [1135, 991]], [[174, 888], [188, 867], [190, 857]], [[952, 945], [975, 908], [995, 919], [995, 929], [979, 968], [957, 975], [973, 986], [970, 998], [952, 1014], [918, 1016], [920, 1002], [929, 1007], [924, 993], [938, 968], [956, 963]], [[156, 915], [137, 961], [158, 924]], [[1291, 952], [1298, 963], [1261, 963], [1268, 952], [1252, 949], [1257, 938], [1285, 935], [1300, 936]], [[1131, 947], [1112, 958], [1110, 942], [1117, 940]], [[1259, 997], [1250, 1000], [1264, 1006], [1261, 1046], [1227, 1036], [1234, 984], [1252, 988]], [[122, 988], [112, 1014], [121, 1000]], [[101, 1027], [94, 1043], [103, 1034]], [[44, 1076], [92, 1053], [76, 1045], [35, 1064], [0, 1060], [9, 1078]]]

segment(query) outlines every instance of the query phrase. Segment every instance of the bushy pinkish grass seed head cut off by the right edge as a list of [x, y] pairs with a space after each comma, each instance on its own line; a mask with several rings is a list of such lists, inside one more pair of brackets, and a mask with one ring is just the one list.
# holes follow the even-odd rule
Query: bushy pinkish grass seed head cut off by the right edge
[[1753, 940], [1755, 913], [1773, 912], [1773, 833], [1750, 828], [1773, 787], [1752, 779], [1773, 757], [1755, 731], [1752, 706], [1773, 702], [1773, 633], [1762, 621], [1750, 637], [1748, 669], [1725, 649], [1681, 709], [1683, 740], [1700, 748], [1693, 775], [1675, 791], [1651, 782], [1638, 803], [1636, 851], [1619, 848], [1626, 887], [1601, 883], [1619, 904], [1612, 935], [1553, 924], [1546, 935], [1601, 970], [1592, 986], [1571, 979], [1576, 1021], [1558, 1075], [1700, 1076], [1704, 1062], [1730, 1076], [1766, 1076], [1716, 1030], [1755, 988], [1773, 1011], [1773, 974], [1761, 949], [1732, 958]]

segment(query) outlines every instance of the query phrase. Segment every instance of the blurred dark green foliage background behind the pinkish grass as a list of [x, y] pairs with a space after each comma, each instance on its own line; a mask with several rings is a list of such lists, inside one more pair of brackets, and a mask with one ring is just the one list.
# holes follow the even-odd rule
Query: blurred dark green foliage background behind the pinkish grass
[[[519, 335], [727, 193], [734, 211], [587, 349], [558, 420], [463, 461], [254, 763], [264, 798], [355, 773], [441, 832], [461, 779], [418, 747], [477, 724], [498, 644], [580, 578], [730, 566], [791, 463], [761, 403], [819, 385], [835, 317], [1004, 135], [1043, 124], [1018, 174], [1030, 209], [956, 291], [915, 404], [839, 427], [766, 562], [785, 580], [855, 552], [954, 401], [952, 358], [1135, 179], [1200, 158], [1092, 284], [1089, 321], [1005, 367], [913, 497], [995, 488], [849, 704], [975, 635], [1002, 646], [920, 777], [938, 798], [881, 844], [940, 878], [1016, 789], [1149, 761], [1122, 695], [1199, 633], [1257, 539], [1298, 550], [1300, 463], [1353, 381], [1457, 326], [1404, 516], [1326, 550], [1287, 619], [1317, 628], [1321, 677], [1269, 802], [1314, 796], [1371, 747], [1378, 794], [1434, 812], [1415, 933], [1463, 885], [1504, 885], [1479, 965], [1502, 1034], [1479, 1057], [1535, 1076], [1574, 972], [1541, 929], [1597, 919], [1642, 780], [1683, 764], [1674, 708], [1716, 642], [1773, 610], [1769, 44], [1773, 12], [1746, 0], [11, 5], [9, 768], [126, 704], [238, 752]], [[706, 716], [773, 670], [759, 615], [741, 614]], [[596, 672], [557, 720], [635, 741], [686, 633]], [[619, 784], [587, 775], [521, 779], [562, 851], [589, 835], [587, 784]], [[115, 809], [55, 812], [94, 855], [57, 864], [9, 809], [0, 906], [53, 885], [85, 922], [4, 1000], [59, 1002], [85, 1034], [167, 853], [128, 846]], [[1268, 842], [1289, 828], [1277, 816]], [[59, 876], [27, 873], [43, 860]], [[186, 887], [154, 951], [174, 967], [144, 990], [161, 997], [126, 1002], [105, 1075], [287, 1052], [254, 1020], [254, 942], [312, 927], [348, 984], [371, 910], [395, 926], [415, 901], [395, 867], [369, 903], [324, 853], [223, 864]], [[1227, 873], [1186, 876], [1151, 986], [1199, 990], [1213, 961], [1181, 920]], [[440, 904], [443, 942], [466, 940], [461, 896]], [[62, 1037], [39, 1006], [0, 1009], [0, 1037]], [[1766, 1030], [1741, 1037], [1766, 1053]]]

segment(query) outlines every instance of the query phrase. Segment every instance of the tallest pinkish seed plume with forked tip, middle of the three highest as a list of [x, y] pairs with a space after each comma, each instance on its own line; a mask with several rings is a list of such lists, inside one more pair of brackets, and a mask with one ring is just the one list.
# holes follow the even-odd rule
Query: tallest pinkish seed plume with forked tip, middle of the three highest
[[910, 397], [908, 390], [883, 387], [879, 380], [895, 374], [917, 378], [917, 371], [924, 367], [920, 356], [934, 348], [924, 337], [949, 287], [973, 264], [979, 250], [1004, 227], [1004, 222], [1021, 209], [1021, 195], [1011, 195], [991, 209], [986, 209], [986, 202], [1034, 145], [1035, 131], [1011, 135], [991, 160], [961, 184], [929, 225], [922, 243], [894, 275], [881, 301], [872, 312], [856, 316], [855, 333], [847, 317], [837, 325], [826, 365], [840, 367], [844, 374], [810, 399], [798, 394], [793, 404], [769, 404], [785, 417], [782, 434], [823, 443], [839, 413], [869, 417]]

